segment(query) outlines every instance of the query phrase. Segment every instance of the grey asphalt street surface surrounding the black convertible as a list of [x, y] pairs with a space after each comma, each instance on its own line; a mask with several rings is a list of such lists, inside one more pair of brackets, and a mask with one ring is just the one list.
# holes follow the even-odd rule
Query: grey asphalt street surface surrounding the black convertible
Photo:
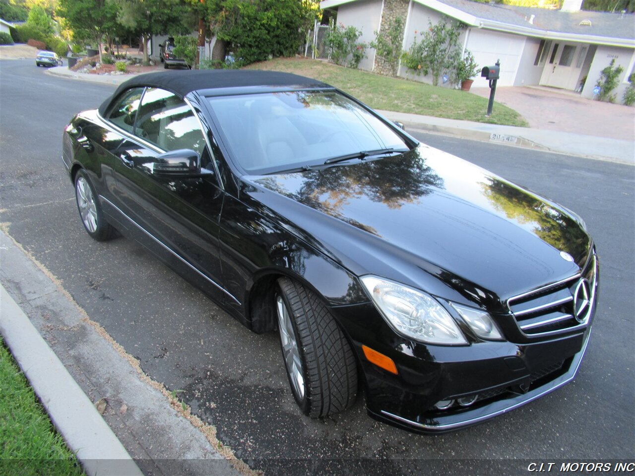
[[[270, 474], [432, 467], [417, 459], [446, 473], [463, 459], [634, 458], [634, 167], [415, 133], [585, 219], [601, 263], [587, 355], [570, 385], [460, 432], [428, 437], [377, 423], [363, 395], [343, 414], [309, 420], [291, 396], [276, 334], [252, 334], [135, 242], [84, 232], [60, 159], [62, 129], [113, 90], [48, 76], [32, 60], [0, 62], [0, 221], [145, 373], [184, 390], [237, 457]], [[526, 473], [514, 467], [505, 472]]]

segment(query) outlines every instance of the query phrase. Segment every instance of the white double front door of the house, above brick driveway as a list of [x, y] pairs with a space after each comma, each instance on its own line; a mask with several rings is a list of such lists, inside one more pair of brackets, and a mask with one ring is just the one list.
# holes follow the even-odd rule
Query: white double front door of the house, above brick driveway
[[540, 84], [552, 88], [575, 89], [589, 51], [588, 44], [554, 41], [545, 63]]

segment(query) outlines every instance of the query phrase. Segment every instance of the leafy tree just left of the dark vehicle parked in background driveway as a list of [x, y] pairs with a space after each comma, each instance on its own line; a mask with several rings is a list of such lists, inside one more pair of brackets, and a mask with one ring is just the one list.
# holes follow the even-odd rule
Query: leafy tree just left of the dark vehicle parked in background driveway
[[152, 35], [189, 34], [196, 28], [194, 10], [183, 0], [119, 0], [119, 7], [119, 23], [142, 37], [146, 64]]

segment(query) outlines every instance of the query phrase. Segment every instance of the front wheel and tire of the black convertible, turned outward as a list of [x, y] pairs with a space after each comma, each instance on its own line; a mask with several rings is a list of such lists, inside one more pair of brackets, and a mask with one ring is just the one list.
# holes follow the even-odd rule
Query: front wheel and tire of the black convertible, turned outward
[[305, 415], [343, 411], [357, 395], [355, 356], [316, 294], [286, 277], [275, 295], [280, 345], [291, 392]]

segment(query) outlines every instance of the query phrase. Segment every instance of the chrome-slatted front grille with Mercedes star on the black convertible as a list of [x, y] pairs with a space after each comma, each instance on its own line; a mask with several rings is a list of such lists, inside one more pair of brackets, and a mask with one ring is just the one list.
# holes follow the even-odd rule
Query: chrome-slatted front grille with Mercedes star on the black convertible
[[523, 334], [530, 337], [561, 334], [589, 323], [595, 302], [595, 253], [580, 274], [507, 300]]

